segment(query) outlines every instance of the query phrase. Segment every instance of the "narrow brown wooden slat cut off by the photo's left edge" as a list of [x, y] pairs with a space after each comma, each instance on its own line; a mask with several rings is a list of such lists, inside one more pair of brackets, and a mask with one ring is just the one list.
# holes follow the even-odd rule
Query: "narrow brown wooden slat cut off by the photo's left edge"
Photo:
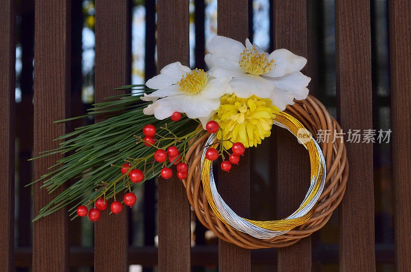
[[14, 269], [14, 92], [15, 92], [15, 1], [0, 2], [0, 244], [4, 248], [0, 269]]

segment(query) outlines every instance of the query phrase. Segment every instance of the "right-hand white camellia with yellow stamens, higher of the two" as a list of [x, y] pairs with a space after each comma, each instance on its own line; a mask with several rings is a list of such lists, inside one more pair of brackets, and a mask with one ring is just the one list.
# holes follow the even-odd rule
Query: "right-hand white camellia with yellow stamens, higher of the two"
[[215, 36], [207, 45], [210, 52], [205, 60], [214, 77], [230, 77], [233, 92], [242, 98], [256, 95], [270, 98], [280, 111], [293, 99], [305, 99], [306, 88], [311, 78], [300, 72], [307, 59], [287, 49], [277, 49], [271, 54], [252, 45], [246, 39], [246, 46], [239, 41]]

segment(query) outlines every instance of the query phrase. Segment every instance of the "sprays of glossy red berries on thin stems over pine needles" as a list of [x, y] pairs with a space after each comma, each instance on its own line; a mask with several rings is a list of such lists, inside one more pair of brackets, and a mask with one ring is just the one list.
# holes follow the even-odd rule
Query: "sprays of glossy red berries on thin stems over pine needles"
[[[171, 119], [173, 121], [180, 120], [181, 113], [179, 112], [173, 113], [173, 115], [171, 116]], [[136, 136], [136, 135], [134, 136], [139, 139], [139, 142], [143, 142], [147, 147], [154, 147], [157, 150], [154, 153], [151, 153], [148, 156], [143, 157], [143, 158], [137, 158], [137, 159], [127, 158], [125, 159], [126, 163], [124, 163], [121, 166], [111, 164], [111, 166], [117, 166], [120, 168], [120, 172], [122, 176], [114, 182], [102, 182], [102, 184], [99, 184], [103, 186], [104, 190], [101, 191], [101, 190], [96, 189], [97, 191], [100, 191], [102, 193], [96, 199], [90, 200], [90, 202], [88, 203], [88, 204], [91, 204], [92, 202], [94, 202], [94, 208], [91, 208], [90, 211], [88, 211], [85, 205], [79, 206], [77, 208], [77, 214], [79, 216], [84, 217], [88, 214], [88, 217], [90, 218], [91, 221], [94, 222], [94, 221], [99, 220], [100, 211], [104, 211], [107, 208], [108, 203], [107, 203], [107, 200], [105, 199], [105, 194], [110, 188], [110, 186], [114, 186], [114, 193], [113, 193], [114, 202], [111, 203], [110, 210], [114, 214], [119, 214], [123, 210], [123, 204], [120, 201], [116, 200], [116, 182], [119, 181], [120, 179], [123, 179], [123, 185], [125, 185], [125, 187], [128, 188], [128, 191], [129, 191], [128, 193], [124, 195], [124, 204], [132, 207], [136, 203], [137, 198], [136, 198], [136, 195], [131, 192], [129, 180], [131, 180], [133, 183], [139, 183], [146, 178], [145, 176], [146, 175], [146, 164], [147, 164], [147, 160], [150, 159], [151, 157], [154, 157], [154, 160], [148, 163], [152, 165], [151, 169], [153, 170], [153, 175], [154, 175], [154, 163], [160, 162], [162, 163], [162, 168], [160, 171], [161, 177], [163, 177], [164, 179], [169, 179], [173, 176], [173, 171], [169, 167], [167, 167], [166, 161], [168, 157], [169, 162], [176, 165], [177, 178], [180, 180], [183, 180], [188, 177], [189, 168], [186, 162], [184, 162], [185, 161], [185, 144], [184, 144], [184, 147], [183, 147], [184, 150], [182, 151], [182, 153], [180, 153], [176, 147], [177, 142], [180, 142], [182, 139], [186, 139], [186, 138], [177, 137], [170, 129], [167, 128], [167, 124], [165, 124], [164, 128], [161, 127], [160, 129], [166, 130], [167, 132], [169, 132], [169, 134], [172, 134], [173, 137], [172, 138], [163, 137], [157, 134], [157, 129], [154, 125], [146, 124], [143, 128], [144, 138]], [[206, 124], [206, 130], [210, 133], [216, 133], [219, 130], [219, 125], [216, 121], [209, 121]], [[195, 131], [189, 135], [195, 135], [195, 133], [197, 132]], [[157, 143], [156, 143], [155, 136], [159, 137]], [[175, 145], [167, 144], [164, 147], [160, 148], [159, 147], [160, 142], [162, 142], [163, 140], [173, 140]], [[227, 141], [230, 141], [230, 139], [228, 139]], [[220, 144], [220, 151], [217, 151], [215, 148], [210, 147], [206, 151], [206, 158], [209, 160], [216, 160], [221, 155], [222, 158], [224, 159], [224, 156], [223, 156], [224, 151], [228, 153], [228, 151], [223, 148], [223, 144]], [[224, 171], [230, 171], [232, 167], [231, 165], [232, 163], [238, 164], [240, 160], [239, 156], [244, 154], [245, 152], [244, 144], [240, 142], [233, 143], [232, 151], [233, 151], [232, 154], [229, 153], [230, 155], [229, 160], [225, 160], [221, 163], [221, 169]], [[139, 163], [141, 162], [144, 162], [143, 171], [136, 168], [136, 165], [140, 165]], [[151, 171], [151, 170], [149, 169], [148, 171]], [[125, 184], [126, 178], [127, 178], [127, 184]]]

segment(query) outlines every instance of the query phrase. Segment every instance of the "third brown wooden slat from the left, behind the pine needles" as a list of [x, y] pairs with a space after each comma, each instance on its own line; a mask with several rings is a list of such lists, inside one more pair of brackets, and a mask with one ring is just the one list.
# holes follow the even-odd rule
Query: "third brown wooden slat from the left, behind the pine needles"
[[[96, 65], [95, 102], [104, 97], [121, 94], [114, 88], [130, 83], [130, 3], [96, 1]], [[98, 116], [96, 122], [103, 120]], [[118, 200], [123, 195], [117, 194]], [[110, 206], [113, 199], [110, 199]], [[95, 223], [94, 269], [96, 271], [128, 271], [128, 211], [123, 207], [119, 215], [109, 215], [109, 208]], [[109, 250], [109, 254], [107, 253]]]

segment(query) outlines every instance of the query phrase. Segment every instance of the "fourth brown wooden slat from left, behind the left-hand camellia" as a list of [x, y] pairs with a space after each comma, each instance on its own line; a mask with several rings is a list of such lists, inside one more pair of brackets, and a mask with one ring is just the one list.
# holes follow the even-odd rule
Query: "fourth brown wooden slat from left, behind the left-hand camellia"
[[[189, 66], [189, 1], [157, 2], [158, 70], [171, 62]], [[190, 204], [177, 179], [158, 179], [158, 269], [190, 271]]]

